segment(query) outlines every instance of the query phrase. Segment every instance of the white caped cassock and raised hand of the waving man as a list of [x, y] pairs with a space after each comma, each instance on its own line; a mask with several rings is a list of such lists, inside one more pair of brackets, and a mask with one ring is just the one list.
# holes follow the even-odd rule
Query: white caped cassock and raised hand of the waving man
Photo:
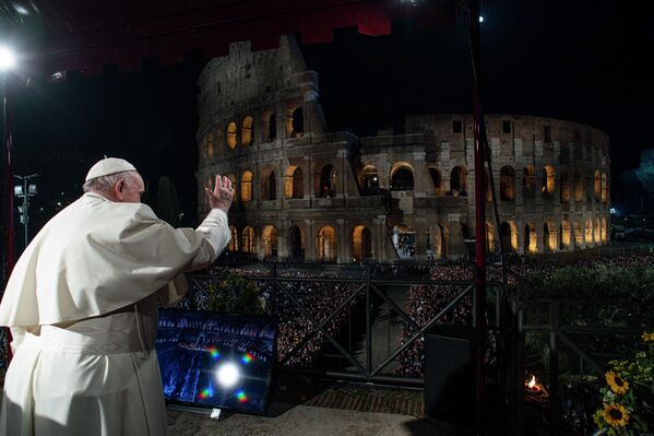
[[2, 303], [11, 328], [0, 435], [164, 435], [157, 303], [229, 243], [225, 212], [173, 228], [141, 203], [85, 193], [19, 259]]

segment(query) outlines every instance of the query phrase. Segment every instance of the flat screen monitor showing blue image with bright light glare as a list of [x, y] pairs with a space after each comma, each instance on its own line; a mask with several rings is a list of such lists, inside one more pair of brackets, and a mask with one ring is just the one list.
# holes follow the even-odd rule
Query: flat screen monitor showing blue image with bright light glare
[[274, 317], [159, 310], [156, 352], [166, 400], [264, 413], [276, 335]]

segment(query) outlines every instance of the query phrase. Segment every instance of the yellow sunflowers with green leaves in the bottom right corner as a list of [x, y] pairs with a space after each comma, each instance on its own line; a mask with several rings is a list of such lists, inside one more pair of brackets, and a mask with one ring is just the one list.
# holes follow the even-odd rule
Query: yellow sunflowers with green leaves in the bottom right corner
[[654, 333], [643, 333], [645, 350], [632, 361], [611, 361], [603, 405], [593, 416], [609, 436], [647, 434], [654, 422]]

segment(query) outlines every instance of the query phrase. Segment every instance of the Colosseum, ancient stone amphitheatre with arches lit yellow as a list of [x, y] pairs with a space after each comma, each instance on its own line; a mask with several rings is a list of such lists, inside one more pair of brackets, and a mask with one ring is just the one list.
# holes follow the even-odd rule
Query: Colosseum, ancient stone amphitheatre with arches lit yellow
[[[431, 261], [467, 256], [474, 237], [473, 120], [409, 116], [358, 138], [329, 131], [318, 74], [295, 39], [247, 42], [199, 79], [198, 185], [237, 187], [229, 249], [269, 260]], [[609, 139], [575, 122], [486, 117], [500, 225], [486, 189], [487, 248], [558, 252], [608, 243]], [[199, 212], [209, 204], [200, 189]], [[474, 241], [473, 241], [474, 244]]]

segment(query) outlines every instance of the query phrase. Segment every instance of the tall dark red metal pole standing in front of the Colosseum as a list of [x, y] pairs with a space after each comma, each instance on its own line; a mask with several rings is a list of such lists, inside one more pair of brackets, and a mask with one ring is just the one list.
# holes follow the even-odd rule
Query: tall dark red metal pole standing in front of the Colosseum
[[481, 97], [479, 90], [480, 28], [479, 4], [467, 3], [467, 27], [471, 60], [473, 62], [473, 106], [474, 106], [474, 160], [475, 160], [475, 298], [474, 327], [475, 346], [475, 422], [480, 432], [485, 426], [486, 375], [486, 204], [484, 189], [484, 149], [481, 146]]

